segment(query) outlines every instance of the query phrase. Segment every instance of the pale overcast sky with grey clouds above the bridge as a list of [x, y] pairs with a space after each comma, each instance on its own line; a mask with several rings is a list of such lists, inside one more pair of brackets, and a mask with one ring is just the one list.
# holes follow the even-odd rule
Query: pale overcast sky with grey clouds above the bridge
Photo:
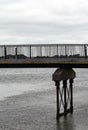
[[88, 43], [88, 0], [0, 0], [1, 43]]

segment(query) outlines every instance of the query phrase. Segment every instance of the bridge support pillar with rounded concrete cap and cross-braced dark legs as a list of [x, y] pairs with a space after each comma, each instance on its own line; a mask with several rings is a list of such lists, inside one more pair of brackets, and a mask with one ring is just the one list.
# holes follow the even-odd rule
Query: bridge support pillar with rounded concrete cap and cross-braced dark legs
[[75, 71], [73, 69], [57, 69], [53, 74], [56, 86], [56, 118], [73, 113], [73, 79]]

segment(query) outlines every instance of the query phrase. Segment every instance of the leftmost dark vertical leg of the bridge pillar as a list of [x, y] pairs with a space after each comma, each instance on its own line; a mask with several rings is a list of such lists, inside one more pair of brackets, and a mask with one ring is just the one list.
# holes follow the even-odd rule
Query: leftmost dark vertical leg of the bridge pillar
[[56, 85], [56, 107], [57, 107], [57, 114], [56, 114], [56, 118], [59, 118], [59, 114], [60, 114], [60, 107], [59, 107], [59, 87], [60, 87], [60, 83], [59, 81], [56, 81], [55, 83]]

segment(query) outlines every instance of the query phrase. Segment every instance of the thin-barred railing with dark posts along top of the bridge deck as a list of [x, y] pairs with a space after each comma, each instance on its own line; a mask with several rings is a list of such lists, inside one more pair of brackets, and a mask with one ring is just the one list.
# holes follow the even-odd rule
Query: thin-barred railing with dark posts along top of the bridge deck
[[0, 58], [88, 56], [88, 44], [0, 45]]

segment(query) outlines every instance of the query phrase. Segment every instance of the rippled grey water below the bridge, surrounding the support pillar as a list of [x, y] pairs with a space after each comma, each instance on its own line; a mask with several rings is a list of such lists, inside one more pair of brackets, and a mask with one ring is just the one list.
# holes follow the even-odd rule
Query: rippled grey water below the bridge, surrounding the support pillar
[[0, 69], [0, 130], [87, 130], [88, 69], [75, 69], [74, 113], [56, 121], [55, 69]]

